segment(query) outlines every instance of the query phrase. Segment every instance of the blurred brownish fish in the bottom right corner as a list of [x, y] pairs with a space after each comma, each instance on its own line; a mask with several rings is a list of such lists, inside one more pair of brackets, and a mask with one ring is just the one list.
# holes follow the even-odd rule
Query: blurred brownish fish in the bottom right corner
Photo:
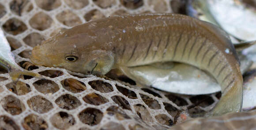
[[176, 124], [168, 130], [255, 130], [256, 110], [223, 116], [196, 118]]

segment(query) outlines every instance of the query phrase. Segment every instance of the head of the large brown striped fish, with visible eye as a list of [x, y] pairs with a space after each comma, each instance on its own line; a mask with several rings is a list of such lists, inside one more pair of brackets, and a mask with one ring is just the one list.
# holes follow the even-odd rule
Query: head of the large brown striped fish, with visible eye
[[60, 32], [34, 47], [30, 57], [32, 63], [94, 75], [104, 75], [113, 68], [113, 52], [88, 33], [73, 33]]

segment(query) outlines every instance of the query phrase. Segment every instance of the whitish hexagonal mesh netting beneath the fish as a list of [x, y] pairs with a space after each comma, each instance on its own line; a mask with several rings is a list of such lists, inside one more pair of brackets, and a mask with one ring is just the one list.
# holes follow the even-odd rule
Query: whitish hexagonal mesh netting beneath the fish
[[182, 13], [182, 6], [182, 0], [0, 0], [0, 27], [15, 61], [45, 78], [24, 76], [15, 84], [0, 70], [0, 128], [161, 130], [210, 110], [220, 93], [172, 94], [122, 75], [85, 76], [27, 62], [34, 46], [62, 29], [120, 14]]

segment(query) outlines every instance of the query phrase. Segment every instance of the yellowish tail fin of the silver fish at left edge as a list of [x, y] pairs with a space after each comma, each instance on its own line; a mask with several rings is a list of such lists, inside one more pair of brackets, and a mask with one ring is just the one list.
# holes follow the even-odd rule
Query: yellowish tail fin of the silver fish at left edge
[[42, 76], [38, 73], [35, 72], [30, 72], [30, 71], [22, 71], [22, 70], [17, 70], [13, 72], [9, 72], [9, 75], [11, 76], [12, 81], [17, 82], [23, 75], [26, 76], [33, 76], [36, 78], [42, 78]]

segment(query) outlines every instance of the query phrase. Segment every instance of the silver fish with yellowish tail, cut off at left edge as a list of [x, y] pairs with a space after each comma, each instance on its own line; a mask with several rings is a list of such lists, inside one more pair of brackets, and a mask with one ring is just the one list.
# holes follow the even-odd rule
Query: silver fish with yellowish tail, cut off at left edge
[[11, 53], [11, 47], [2, 29], [0, 29], [0, 48], [0, 67], [8, 71], [12, 81], [17, 82], [22, 75], [41, 78], [40, 74], [22, 69], [15, 62], [14, 56]]

